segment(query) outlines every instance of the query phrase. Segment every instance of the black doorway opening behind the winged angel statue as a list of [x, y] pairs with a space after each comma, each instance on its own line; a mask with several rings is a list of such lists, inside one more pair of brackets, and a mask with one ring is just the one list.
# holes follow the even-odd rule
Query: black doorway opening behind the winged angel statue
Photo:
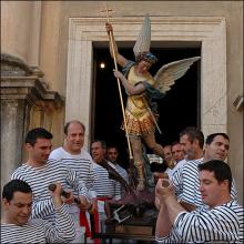
[[[120, 52], [134, 60], [132, 48], [120, 48]], [[201, 55], [201, 48], [161, 48], [151, 49], [159, 62], [150, 72], [152, 75], [169, 62]], [[128, 144], [125, 133], [121, 130], [122, 109], [119, 96], [116, 79], [113, 77], [113, 60], [108, 48], [94, 48], [94, 80], [93, 80], [93, 131], [92, 139], [104, 140], [108, 144], [116, 144], [120, 151], [121, 162], [128, 166]], [[104, 69], [100, 68], [101, 63]], [[119, 67], [121, 70], [121, 68]], [[184, 77], [179, 79], [165, 98], [159, 101], [159, 126], [162, 134], [156, 131], [156, 141], [162, 144], [171, 144], [179, 140], [179, 133], [186, 126], [201, 126], [200, 121], [200, 62], [194, 63]], [[123, 87], [124, 105], [126, 94]], [[151, 153], [148, 150], [148, 153]]]

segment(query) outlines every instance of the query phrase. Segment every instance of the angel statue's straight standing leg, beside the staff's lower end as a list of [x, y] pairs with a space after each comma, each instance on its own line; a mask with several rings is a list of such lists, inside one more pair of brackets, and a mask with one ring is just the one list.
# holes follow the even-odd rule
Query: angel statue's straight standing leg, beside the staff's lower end
[[130, 136], [130, 142], [134, 156], [134, 166], [138, 171], [138, 185], [136, 190], [143, 191], [145, 189], [144, 165], [142, 159], [142, 142], [139, 136]]

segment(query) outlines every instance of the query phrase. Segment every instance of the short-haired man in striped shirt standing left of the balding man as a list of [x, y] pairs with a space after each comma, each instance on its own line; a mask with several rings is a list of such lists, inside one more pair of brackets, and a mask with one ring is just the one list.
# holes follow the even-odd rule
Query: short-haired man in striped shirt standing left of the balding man
[[[37, 128], [28, 132], [26, 136], [26, 149], [28, 151], [28, 162], [19, 166], [12, 174], [12, 179], [26, 181], [33, 192], [32, 217], [54, 221], [54, 206], [50, 197], [48, 186], [59, 182], [63, 189], [71, 192], [70, 197], [64, 199], [64, 203], [74, 205], [74, 197], [80, 200], [79, 207], [89, 206], [89, 194], [84, 182], [77, 173], [60, 161], [49, 160], [51, 152], [52, 134], [42, 128]], [[74, 191], [75, 190], [75, 191]], [[75, 243], [83, 242], [83, 231], [77, 230]]]

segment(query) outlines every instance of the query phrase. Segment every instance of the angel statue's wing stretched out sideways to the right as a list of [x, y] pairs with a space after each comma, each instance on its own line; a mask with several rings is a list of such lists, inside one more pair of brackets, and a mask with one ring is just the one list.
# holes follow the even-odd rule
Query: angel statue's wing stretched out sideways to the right
[[170, 91], [175, 81], [183, 77], [190, 67], [200, 59], [201, 57], [193, 57], [164, 64], [154, 75], [155, 88], [163, 93]]

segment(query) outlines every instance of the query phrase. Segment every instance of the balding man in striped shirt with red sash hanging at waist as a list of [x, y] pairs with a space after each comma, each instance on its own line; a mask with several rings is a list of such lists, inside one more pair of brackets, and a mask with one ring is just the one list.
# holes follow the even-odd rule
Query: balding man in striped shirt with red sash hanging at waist
[[[53, 150], [49, 159], [60, 161], [62, 165], [77, 172], [89, 191], [89, 196], [91, 199], [90, 212], [93, 212], [98, 209], [96, 193], [94, 191], [94, 171], [92, 157], [88, 151], [83, 149], [84, 133], [85, 126], [83, 123], [77, 120], [68, 122], [64, 125], [63, 146]], [[89, 227], [89, 212], [85, 210], [80, 210], [75, 204], [72, 205], [70, 212], [73, 216], [77, 228], [83, 230], [88, 242], [88, 240], [91, 237]], [[80, 226], [80, 223], [83, 227]]]

